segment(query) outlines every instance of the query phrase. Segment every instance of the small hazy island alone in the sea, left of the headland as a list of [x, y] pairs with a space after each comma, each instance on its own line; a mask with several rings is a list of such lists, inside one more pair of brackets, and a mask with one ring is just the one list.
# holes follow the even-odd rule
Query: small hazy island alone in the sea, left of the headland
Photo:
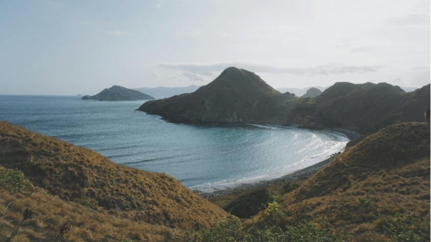
[[112, 86], [104, 89], [95, 95], [82, 96], [82, 100], [99, 100], [99, 101], [134, 101], [134, 100], [153, 100], [150, 95], [137, 90], [128, 89], [122, 86]]

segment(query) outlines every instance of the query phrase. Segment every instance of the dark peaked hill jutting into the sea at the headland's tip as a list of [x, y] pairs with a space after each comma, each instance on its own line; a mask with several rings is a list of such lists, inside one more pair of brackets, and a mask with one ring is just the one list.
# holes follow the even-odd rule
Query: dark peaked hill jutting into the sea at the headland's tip
[[253, 72], [229, 67], [193, 93], [149, 101], [138, 110], [180, 123], [275, 122], [283, 95]]

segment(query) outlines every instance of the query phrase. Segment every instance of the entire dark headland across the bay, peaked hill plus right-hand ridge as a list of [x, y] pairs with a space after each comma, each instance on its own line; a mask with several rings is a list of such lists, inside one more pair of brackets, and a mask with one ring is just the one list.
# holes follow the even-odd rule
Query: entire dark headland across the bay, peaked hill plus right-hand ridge
[[369, 134], [400, 122], [422, 122], [430, 85], [413, 92], [388, 83], [338, 82], [298, 97], [281, 93], [251, 71], [229, 67], [192, 93], [148, 101], [138, 110], [172, 123], [274, 124], [305, 128], [344, 128]]

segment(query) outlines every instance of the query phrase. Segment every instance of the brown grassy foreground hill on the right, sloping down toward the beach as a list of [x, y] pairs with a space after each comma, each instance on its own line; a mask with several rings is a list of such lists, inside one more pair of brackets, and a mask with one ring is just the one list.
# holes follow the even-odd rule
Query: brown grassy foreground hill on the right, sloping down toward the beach
[[246, 227], [312, 223], [325, 229], [321, 236], [343, 241], [429, 241], [429, 156], [429, 124], [389, 126], [346, 149]]

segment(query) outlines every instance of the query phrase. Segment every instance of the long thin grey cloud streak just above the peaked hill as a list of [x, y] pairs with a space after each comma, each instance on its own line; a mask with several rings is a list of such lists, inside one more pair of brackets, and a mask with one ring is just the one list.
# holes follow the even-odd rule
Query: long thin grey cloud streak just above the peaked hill
[[182, 70], [188, 73], [194, 73], [204, 76], [214, 76], [229, 66], [247, 69], [253, 72], [265, 72], [271, 74], [292, 74], [299, 76], [315, 75], [341, 75], [357, 72], [373, 72], [384, 66], [367, 66], [367, 65], [321, 65], [310, 67], [273, 67], [268, 65], [253, 65], [240, 62], [214, 63], [214, 64], [178, 64], [178, 63], [161, 63], [162, 68]]

